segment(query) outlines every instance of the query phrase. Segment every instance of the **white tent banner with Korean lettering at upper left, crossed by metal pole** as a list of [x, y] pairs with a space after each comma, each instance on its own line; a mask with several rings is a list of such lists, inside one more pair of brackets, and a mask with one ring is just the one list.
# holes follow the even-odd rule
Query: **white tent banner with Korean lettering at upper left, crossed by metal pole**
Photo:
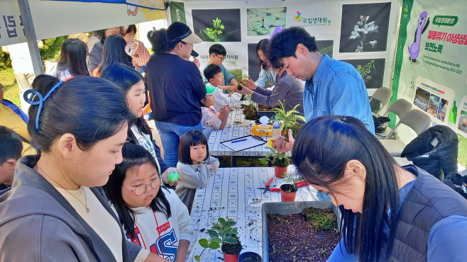
[[[165, 11], [126, 4], [42, 0], [30, 0], [29, 4], [38, 39], [165, 18]], [[18, 1], [0, 1], [0, 21], [0, 46], [26, 42]]]

